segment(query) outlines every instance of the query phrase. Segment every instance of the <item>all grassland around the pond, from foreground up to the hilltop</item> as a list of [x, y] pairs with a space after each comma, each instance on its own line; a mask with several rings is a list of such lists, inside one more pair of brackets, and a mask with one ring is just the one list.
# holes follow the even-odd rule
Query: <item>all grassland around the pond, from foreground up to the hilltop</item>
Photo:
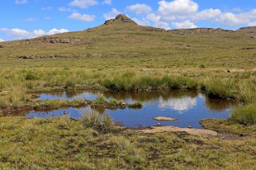
[[[149, 135], [119, 127], [102, 133], [69, 118], [2, 117], [2, 168], [255, 167], [254, 28], [166, 32], [116, 21], [56, 37], [80, 41], [1, 43], [1, 110], [22, 108], [28, 103], [33, 106], [34, 91], [198, 89], [212, 98], [238, 100], [244, 105], [234, 110], [230, 120], [209, 120], [203, 126], [247, 137], [222, 140], [179, 133]], [[21, 59], [26, 58], [23, 56], [31, 59]]]

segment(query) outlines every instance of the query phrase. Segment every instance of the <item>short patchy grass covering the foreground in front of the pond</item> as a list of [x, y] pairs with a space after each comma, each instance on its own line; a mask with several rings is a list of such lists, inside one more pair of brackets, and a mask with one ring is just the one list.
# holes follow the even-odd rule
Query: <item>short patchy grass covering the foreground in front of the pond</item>
[[223, 140], [185, 133], [136, 133], [117, 126], [102, 131], [99, 126], [102, 124], [88, 124], [88, 121], [85, 124], [83, 120], [70, 118], [0, 118], [0, 122], [2, 169], [250, 169], [256, 166], [255, 140], [250, 136]]

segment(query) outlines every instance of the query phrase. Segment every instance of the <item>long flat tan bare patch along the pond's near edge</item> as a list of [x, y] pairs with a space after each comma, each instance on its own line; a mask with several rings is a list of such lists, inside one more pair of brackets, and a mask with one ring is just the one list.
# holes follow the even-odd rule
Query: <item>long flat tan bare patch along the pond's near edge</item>
[[163, 133], [163, 132], [186, 132], [198, 136], [217, 136], [218, 133], [209, 129], [190, 129], [190, 128], [179, 128], [175, 126], [161, 126], [152, 127], [151, 129], [140, 129], [140, 133]]

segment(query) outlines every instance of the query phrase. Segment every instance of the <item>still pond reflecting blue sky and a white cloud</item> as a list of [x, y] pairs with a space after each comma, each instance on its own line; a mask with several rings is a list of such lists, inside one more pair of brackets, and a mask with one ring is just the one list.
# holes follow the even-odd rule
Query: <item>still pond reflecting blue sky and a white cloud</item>
[[[67, 108], [51, 111], [30, 111], [26, 114], [28, 118], [52, 118], [70, 116], [71, 118], [82, 118], [82, 115], [90, 111], [100, 114], [110, 114], [114, 122], [123, 126], [138, 128], [156, 126], [160, 123], [163, 126], [179, 126], [201, 129], [199, 120], [205, 118], [229, 118], [232, 108], [236, 102], [224, 99], [209, 99], [198, 91], [144, 91], [144, 92], [100, 92], [100, 91], [73, 91], [54, 92], [41, 94], [39, 99], [96, 99], [104, 95], [106, 99], [121, 99], [128, 103], [140, 101], [143, 107], [140, 110], [134, 109], [92, 109]], [[167, 117], [175, 118], [178, 121], [156, 121], [153, 118]]]

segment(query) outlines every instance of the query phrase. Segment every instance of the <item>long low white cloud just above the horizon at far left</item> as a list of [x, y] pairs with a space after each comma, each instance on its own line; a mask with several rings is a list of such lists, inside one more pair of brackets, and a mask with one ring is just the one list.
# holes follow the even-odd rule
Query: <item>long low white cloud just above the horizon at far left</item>
[[6, 33], [7, 37], [10, 37], [11, 40], [21, 40], [33, 37], [40, 37], [44, 35], [53, 35], [56, 33], [66, 33], [69, 32], [68, 29], [51, 29], [49, 32], [45, 32], [43, 29], [33, 30], [32, 32], [23, 30], [23, 29], [6, 29], [1, 28], [1, 33]]

